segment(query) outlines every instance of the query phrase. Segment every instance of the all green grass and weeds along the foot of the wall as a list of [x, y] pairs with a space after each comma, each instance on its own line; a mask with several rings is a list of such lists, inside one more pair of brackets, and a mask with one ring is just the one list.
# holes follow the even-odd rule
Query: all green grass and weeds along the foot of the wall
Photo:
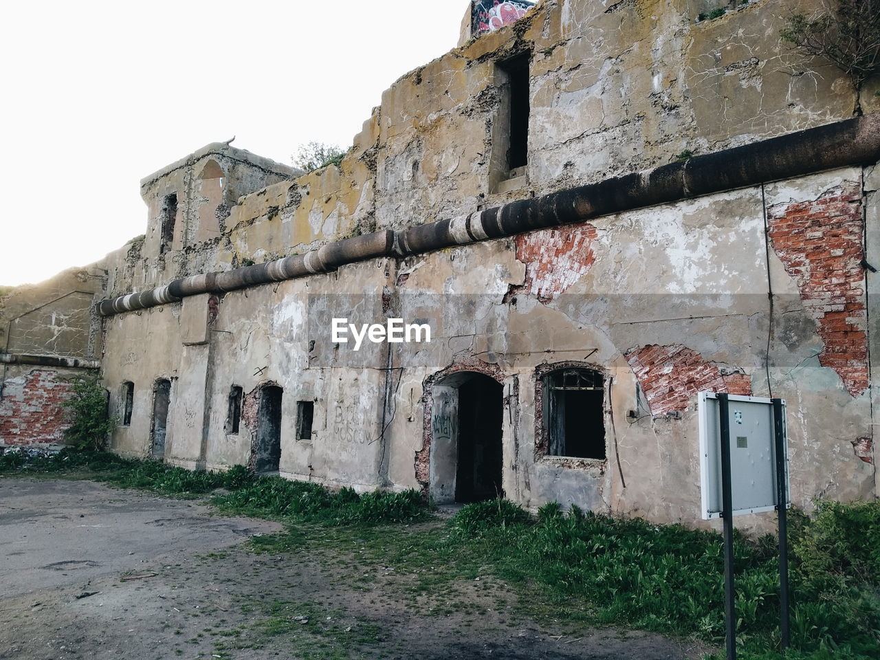
[[[517, 598], [511, 616], [554, 620], [555, 629], [615, 624], [723, 643], [723, 551], [715, 532], [576, 507], [566, 512], [555, 502], [532, 516], [498, 500], [469, 504], [444, 524], [407, 527], [429, 518], [414, 491], [358, 495], [344, 488], [334, 493], [312, 483], [253, 478], [241, 466], [194, 473], [101, 452], [65, 450], [51, 458], [6, 454], [0, 457], [0, 473], [88, 476], [167, 495], [225, 488], [228, 493], [211, 500], [221, 510], [287, 524], [285, 532], [251, 539], [253, 549], [323, 555], [322, 561], [344, 566], [340, 579], [348, 587], [365, 593], [393, 576], [395, 589], [418, 615], [477, 615], [485, 604], [502, 602], [499, 597], [512, 588]], [[793, 649], [786, 658], [880, 656], [880, 502], [823, 502], [814, 517], [794, 512], [789, 520]], [[734, 559], [739, 655], [777, 660], [775, 540], [737, 535]], [[329, 634], [331, 653], [347, 650], [353, 641], [376, 643], [374, 631], [364, 627], [349, 635], [345, 627], [337, 629], [335, 616], [326, 623], [306, 605], [276, 601], [252, 632]], [[314, 618], [305, 624], [295, 620], [304, 615]]]

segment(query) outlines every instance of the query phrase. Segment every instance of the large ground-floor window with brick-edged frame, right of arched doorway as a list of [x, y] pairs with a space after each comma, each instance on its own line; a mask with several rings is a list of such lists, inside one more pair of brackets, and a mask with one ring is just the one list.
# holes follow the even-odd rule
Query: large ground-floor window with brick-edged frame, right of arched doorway
[[[601, 370], [589, 366], [562, 366], [547, 370], [539, 377], [539, 392], [541, 397], [541, 426], [539, 434], [539, 455], [552, 458], [572, 458], [582, 461], [605, 461], [607, 460], [607, 437], [605, 425], [605, 387], [607, 379]], [[568, 444], [566, 441], [570, 433], [568, 425], [573, 423], [566, 414], [567, 400], [565, 392], [598, 392], [598, 400], [590, 402], [590, 406], [597, 406], [584, 413], [583, 407], [578, 408], [579, 414], [588, 416], [592, 414], [594, 420], [601, 420], [601, 429], [596, 429], [590, 435], [578, 438], [576, 443]], [[601, 437], [596, 435], [601, 432]], [[585, 429], [590, 434], [590, 429]], [[591, 445], [591, 446], [590, 446]], [[577, 446], [579, 448], [573, 448]]]

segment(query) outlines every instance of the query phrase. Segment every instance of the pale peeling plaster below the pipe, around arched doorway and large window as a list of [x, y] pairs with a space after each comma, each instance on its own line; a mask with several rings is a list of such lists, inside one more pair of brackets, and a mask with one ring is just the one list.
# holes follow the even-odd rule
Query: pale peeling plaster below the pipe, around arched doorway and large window
[[[859, 169], [849, 168], [768, 186], [767, 208], [819, 199], [826, 190], [859, 181], [861, 176]], [[627, 362], [627, 355], [644, 347], [686, 344], [693, 359], [660, 361], [661, 368], [649, 371], [646, 378], [663, 375], [667, 368], [681, 370], [672, 373], [678, 378], [710, 368], [723, 375], [710, 384], [711, 389], [766, 396], [764, 354], [771, 323], [768, 265], [774, 290], [769, 385], [774, 396], [788, 400], [795, 501], [809, 509], [818, 495], [843, 500], [872, 495], [874, 466], [854, 451], [862, 437], [871, 435], [869, 393], [854, 396], [845, 373], [841, 378], [832, 367], [819, 363], [823, 342], [817, 322], [772, 246], [766, 251], [763, 208], [761, 189], [751, 188], [580, 225], [585, 235], [596, 235], [591, 246], [595, 262], [589, 273], [551, 300], [520, 288], [529, 277], [522, 265], [527, 273], [530, 265], [541, 262], [517, 260], [522, 256], [517, 254], [518, 240], [455, 248], [423, 258], [421, 268], [402, 289], [413, 290], [414, 299], [421, 297], [422, 302], [430, 291], [436, 304], [450, 308], [436, 312], [440, 331], [429, 348], [434, 370], [477, 356], [501, 367], [506, 386], [514, 378], [518, 381], [516, 406], [505, 411], [506, 421], [515, 420], [515, 428], [505, 425], [508, 496], [530, 506], [554, 499], [655, 520], [697, 517], [697, 389], [684, 398], [678, 396], [671, 406], [660, 400], [656, 409], [649, 409], [639, 392], [645, 392], [650, 381], [640, 382], [639, 371]], [[536, 233], [552, 247], [554, 233], [560, 232]], [[558, 246], [568, 243], [558, 236], [556, 240]], [[495, 287], [480, 277], [490, 268], [483, 264], [502, 275]], [[551, 278], [567, 276], [550, 265], [544, 268]], [[511, 285], [515, 297], [498, 305], [502, 297], [491, 291]], [[459, 287], [469, 286], [487, 294], [477, 301], [455, 296]], [[501, 310], [500, 328], [498, 316], [476, 312], [493, 304]], [[443, 322], [450, 318], [460, 320], [447, 329]], [[462, 327], [466, 324], [468, 330]], [[412, 358], [410, 351], [401, 363]], [[612, 380], [612, 400], [606, 400], [608, 459], [604, 463], [535, 457], [535, 370], [543, 363], [572, 360], [596, 366]], [[422, 383], [431, 375], [430, 367], [422, 368], [421, 363], [414, 367], [402, 378], [399, 421], [392, 426], [392, 482], [412, 485], [418, 479], [413, 482], [409, 458], [411, 452], [422, 451], [413, 426], [422, 422], [423, 414], [411, 402], [423, 395]], [[627, 418], [630, 410], [636, 411], [637, 419]]]

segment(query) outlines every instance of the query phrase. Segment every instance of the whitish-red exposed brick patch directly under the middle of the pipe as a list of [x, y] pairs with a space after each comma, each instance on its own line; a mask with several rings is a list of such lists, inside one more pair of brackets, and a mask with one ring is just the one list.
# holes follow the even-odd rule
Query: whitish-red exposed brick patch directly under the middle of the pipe
[[514, 291], [531, 293], [545, 304], [559, 296], [590, 272], [597, 235], [589, 223], [518, 235], [517, 260], [525, 264], [525, 282]]

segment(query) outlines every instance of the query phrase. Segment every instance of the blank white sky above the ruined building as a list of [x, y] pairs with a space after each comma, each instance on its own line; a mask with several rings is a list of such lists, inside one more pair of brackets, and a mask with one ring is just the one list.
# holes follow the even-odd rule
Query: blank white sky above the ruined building
[[140, 180], [211, 142], [290, 165], [348, 148], [382, 92], [458, 41], [467, 0], [44, 0], [0, 28], [0, 284], [146, 229]]

